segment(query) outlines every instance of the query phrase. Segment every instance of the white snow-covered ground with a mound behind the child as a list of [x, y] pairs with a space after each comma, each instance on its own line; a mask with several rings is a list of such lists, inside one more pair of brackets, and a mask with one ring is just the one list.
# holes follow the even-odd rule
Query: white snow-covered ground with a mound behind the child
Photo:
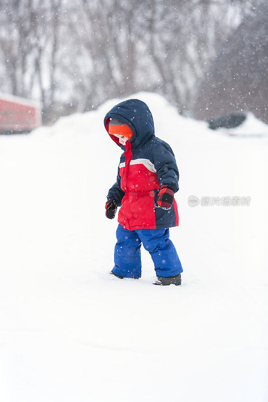
[[[182, 286], [153, 286], [144, 249], [140, 280], [109, 276], [118, 224], [104, 205], [121, 150], [103, 118], [118, 99], [0, 137], [0, 399], [267, 401], [268, 136], [225, 136], [159, 95], [132, 97], [180, 170]], [[213, 196], [251, 200], [201, 205]]]

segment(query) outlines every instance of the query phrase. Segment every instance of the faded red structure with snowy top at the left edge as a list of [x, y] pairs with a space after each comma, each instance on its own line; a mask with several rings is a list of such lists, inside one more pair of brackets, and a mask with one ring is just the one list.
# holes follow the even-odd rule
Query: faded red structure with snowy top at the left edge
[[38, 102], [0, 92], [0, 134], [29, 132], [40, 125]]

